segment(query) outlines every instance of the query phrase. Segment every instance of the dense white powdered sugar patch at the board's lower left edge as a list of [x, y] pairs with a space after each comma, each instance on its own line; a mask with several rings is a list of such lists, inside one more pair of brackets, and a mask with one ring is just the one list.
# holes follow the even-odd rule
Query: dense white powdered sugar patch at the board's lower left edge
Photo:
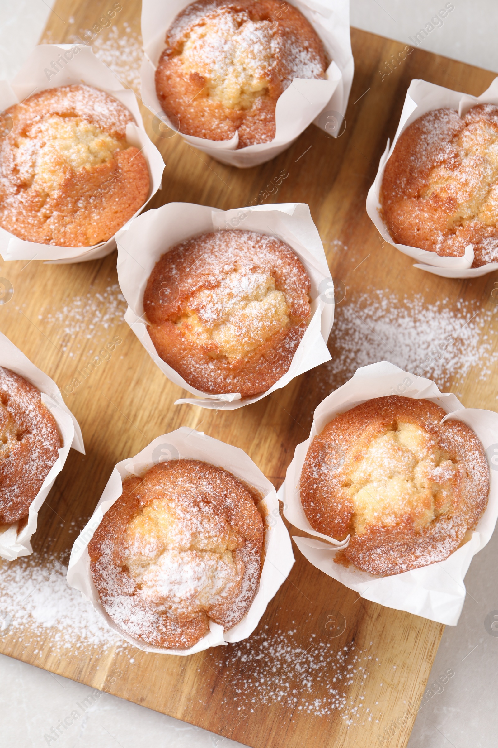
[[0, 570], [0, 610], [12, 618], [10, 639], [43, 650], [127, 648], [81, 592], [69, 587], [67, 567], [57, 557], [33, 555], [3, 562]]

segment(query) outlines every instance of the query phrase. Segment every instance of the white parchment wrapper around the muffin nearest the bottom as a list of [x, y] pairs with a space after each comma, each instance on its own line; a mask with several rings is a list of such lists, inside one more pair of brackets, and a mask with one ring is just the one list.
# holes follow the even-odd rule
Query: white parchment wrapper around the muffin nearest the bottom
[[[161, 457], [162, 456], [162, 457]], [[146, 646], [139, 640], [132, 639], [125, 634], [105, 612], [99, 595], [93, 583], [90, 571], [90, 557], [88, 555], [88, 543], [93, 538], [97, 527], [102, 522], [105, 512], [111, 508], [116, 499], [122, 494], [122, 480], [130, 475], [141, 476], [152, 468], [152, 465], [161, 462], [164, 456], [169, 459], [195, 459], [217, 465], [219, 468], [229, 470], [240, 480], [252, 485], [261, 496], [262, 506], [266, 510], [265, 539], [264, 539], [264, 563], [261, 568], [261, 578], [258, 592], [252, 601], [246, 616], [228, 631], [223, 631], [222, 626], [209, 622], [210, 632], [190, 649], [160, 649], [158, 647]], [[209, 647], [216, 647], [228, 642], [240, 642], [252, 634], [258, 625], [261, 616], [267, 608], [267, 604], [276, 595], [278, 588], [287, 579], [293, 566], [294, 557], [287, 529], [278, 512], [278, 500], [275, 488], [261, 473], [252, 459], [243, 450], [225, 444], [222, 441], [211, 438], [194, 429], [181, 429], [158, 436], [144, 450], [136, 456], [118, 462], [104, 493], [93, 512], [87, 526], [72, 547], [67, 581], [70, 586], [79, 589], [81, 594], [93, 604], [93, 607], [105, 618], [108, 624], [119, 636], [127, 642], [134, 644], [143, 652], [159, 652], [162, 654], [195, 654]]]

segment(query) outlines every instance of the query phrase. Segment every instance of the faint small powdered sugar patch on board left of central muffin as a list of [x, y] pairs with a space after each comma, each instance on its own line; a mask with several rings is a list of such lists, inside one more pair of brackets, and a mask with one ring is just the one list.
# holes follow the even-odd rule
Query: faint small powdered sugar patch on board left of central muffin
[[114, 283], [102, 292], [89, 291], [83, 296], [72, 296], [59, 309], [43, 307], [38, 319], [56, 325], [63, 343], [69, 343], [70, 338], [90, 340], [96, 332], [115, 328], [123, 321], [126, 308], [125, 297], [119, 285]]

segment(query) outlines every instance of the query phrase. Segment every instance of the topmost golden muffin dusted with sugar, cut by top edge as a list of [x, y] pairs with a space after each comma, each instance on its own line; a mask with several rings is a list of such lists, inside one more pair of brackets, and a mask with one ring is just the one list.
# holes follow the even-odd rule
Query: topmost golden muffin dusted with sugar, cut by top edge
[[316, 31], [280, 0], [199, 0], [166, 33], [155, 87], [180, 132], [238, 148], [275, 138], [278, 96], [294, 78], [323, 79]]

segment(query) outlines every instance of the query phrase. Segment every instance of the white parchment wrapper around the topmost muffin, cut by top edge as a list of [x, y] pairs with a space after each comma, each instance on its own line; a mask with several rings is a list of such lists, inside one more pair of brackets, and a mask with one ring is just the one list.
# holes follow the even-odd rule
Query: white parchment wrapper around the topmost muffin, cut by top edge
[[[178, 131], [178, 126], [181, 128], [181, 123], [172, 123], [161, 108], [155, 92], [155, 70], [166, 46], [166, 31], [178, 13], [189, 4], [190, 0], [143, 0], [142, 3], [141, 23], [145, 52], [140, 68], [142, 100], [153, 114], [174, 131]], [[270, 161], [293, 144], [311, 122], [329, 135], [336, 136], [340, 133], [355, 70], [349, 37], [349, 0], [293, 0], [290, 4], [308, 19], [332, 60], [326, 71], [326, 79], [293, 79], [289, 88], [278, 99], [276, 133], [270, 143], [236, 150], [238, 132], [228, 141], [210, 141], [180, 132], [187, 143], [223, 164], [248, 168]], [[282, 2], [282, 7], [284, 5]], [[332, 115], [331, 119], [328, 118], [329, 114]]]

